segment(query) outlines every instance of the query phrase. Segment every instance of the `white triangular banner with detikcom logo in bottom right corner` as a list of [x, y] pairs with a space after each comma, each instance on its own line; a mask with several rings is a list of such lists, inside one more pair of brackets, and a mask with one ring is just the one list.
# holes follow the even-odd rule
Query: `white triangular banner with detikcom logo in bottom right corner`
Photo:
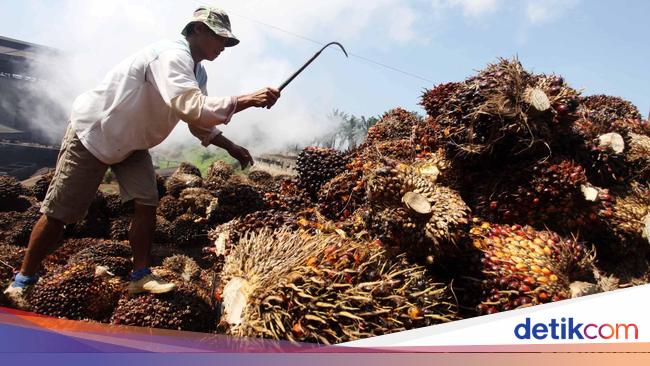
[[342, 344], [355, 347], [650, 342], [650, 285]]

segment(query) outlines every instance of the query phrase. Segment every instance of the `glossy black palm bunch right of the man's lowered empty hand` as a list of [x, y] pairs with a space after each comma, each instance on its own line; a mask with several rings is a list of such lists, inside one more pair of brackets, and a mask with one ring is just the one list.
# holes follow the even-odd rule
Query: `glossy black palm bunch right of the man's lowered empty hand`
[[347, 163], [346, 156], [334, 149], [306, 147], [296, 161], [299, 185], [316, 201], [320, 187], [343, 172]]

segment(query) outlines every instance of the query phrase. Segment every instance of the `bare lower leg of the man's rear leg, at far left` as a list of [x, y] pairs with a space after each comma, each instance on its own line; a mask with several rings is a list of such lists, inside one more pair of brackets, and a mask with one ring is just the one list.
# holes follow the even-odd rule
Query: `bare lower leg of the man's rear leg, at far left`
[[62, 221], [45, 215], [38, 219], [29, 237], [29, 245], [20, 268], [23, 275], [36, 274], [43, 259], [59, 246], [63, 236], [63, 226]]

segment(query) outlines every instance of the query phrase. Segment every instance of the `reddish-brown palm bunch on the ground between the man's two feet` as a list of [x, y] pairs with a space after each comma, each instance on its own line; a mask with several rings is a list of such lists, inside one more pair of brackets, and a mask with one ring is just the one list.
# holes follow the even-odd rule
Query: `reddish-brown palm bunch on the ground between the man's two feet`
[[43, 277], [27, 293], [31, 309], [67, 319], [106, 320], [119, 299], [123, 284], [96, 274], [89, 262], [70, 264]]

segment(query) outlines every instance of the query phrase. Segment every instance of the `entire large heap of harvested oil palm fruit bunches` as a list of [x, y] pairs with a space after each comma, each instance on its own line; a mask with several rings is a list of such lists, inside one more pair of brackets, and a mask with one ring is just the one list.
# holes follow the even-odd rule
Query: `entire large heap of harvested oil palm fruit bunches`
[[[126, 294], [133, 206], [98, 193], [28, 305], [331, 344], [648, 282], [650, 126], [631, 103], [515, 59], [421, 105], [353, 150], [305, 148], [295, 176], [215, 162], [159, 177], [152, 265], [173, 294]], [[51, 179], [0, 177], [2, 285]]]

